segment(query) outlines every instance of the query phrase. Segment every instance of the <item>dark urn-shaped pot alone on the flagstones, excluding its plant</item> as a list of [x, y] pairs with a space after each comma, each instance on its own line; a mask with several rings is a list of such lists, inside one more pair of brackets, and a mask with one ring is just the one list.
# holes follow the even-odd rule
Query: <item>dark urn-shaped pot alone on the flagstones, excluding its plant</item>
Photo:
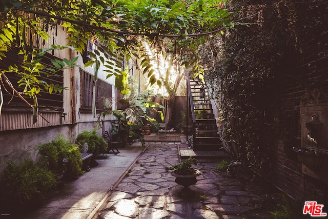
[[193, 194], [193, 190], [189, 188], [189, 186], [196, 184], [197, 179], [196, 176], [199, 176], [201, 172], [197, 169], [195, 169], [194, 174], [190, 175], [181, 175], [175, 173], [175, 170], [171, 172], [171, 175], [175, 176], [175, 182], [181, 186], [183, 186], [183, 189], [180, 190], [180, 194], [182, 196], [191, 196]]

